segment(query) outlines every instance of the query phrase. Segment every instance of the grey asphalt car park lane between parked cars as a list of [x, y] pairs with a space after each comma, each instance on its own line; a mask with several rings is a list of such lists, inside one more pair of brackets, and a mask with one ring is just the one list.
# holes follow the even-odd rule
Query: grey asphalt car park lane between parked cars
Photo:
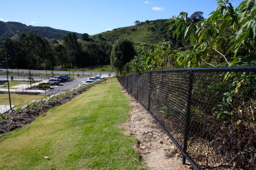
[[[82, 81], [86, 80], [88, 77], [85, 78], [76, 78], [74, 80], [69, 80], [69, 81], [65, 81], [60, 83], [59, 85], [51, 85], [50, 90], [46, 91], [46, 95], [51, 95], [51, 94], [55, 94], [58, 93], [60, 91], [66, 91], [66, 89], [73, 89], [75, 87], [78, 87], [79, 84], [82, 83]], [[45, 95], [45, 93], [43, 93], [42, 95]]]

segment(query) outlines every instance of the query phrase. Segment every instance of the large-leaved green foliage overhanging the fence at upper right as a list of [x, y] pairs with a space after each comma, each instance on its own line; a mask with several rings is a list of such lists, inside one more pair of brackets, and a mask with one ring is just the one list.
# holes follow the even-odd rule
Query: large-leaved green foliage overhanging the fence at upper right
[[[217, 10], [208, 19], [201, 19], [199, 22], [193, 22], [186, 12], [181, 12], [178, 17], [169, 19], [169, 22], [175, 21], [170, 29], [176, 27], [173, 36], [182, 35], [183, 43], [190, 42], [192, 54], [179, 60], [189, 58], [189, 62], [178, 63], [181, 66], [185, 66], [185, 63], [187, 67], [200, 66], [201, 63], [215, 67], [213, 58], [210, 58], [213, 52], [223, 57], [228, 66], [255, 63], [255, 19], [256, 2], [252, 0], [242, 1], [236, 9], [228, 0], [219, 0]], [[240, 48], [244, 49], [241, 53]]]

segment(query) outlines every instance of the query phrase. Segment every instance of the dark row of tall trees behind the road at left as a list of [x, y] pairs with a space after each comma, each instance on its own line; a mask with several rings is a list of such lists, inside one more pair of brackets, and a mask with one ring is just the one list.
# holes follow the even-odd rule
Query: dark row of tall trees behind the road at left
[[62, 41], [22, 33], [17, 40], [6, 39], [2, 43], [0, 61], [7, 57], [9, 68], [51, 70], [110, 64], [112, 46], [88, 36], [83, 34], [85, 43], [79, 43], [75, 33], [66, 34]]

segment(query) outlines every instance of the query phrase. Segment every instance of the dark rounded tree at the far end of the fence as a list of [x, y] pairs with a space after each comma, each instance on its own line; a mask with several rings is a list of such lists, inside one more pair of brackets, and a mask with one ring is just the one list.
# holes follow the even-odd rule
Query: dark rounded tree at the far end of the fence
[[122, 75], [123, 66], [130, 62], [136, 55], [133, 42], [130, 40], [117, 41], [111, 51], [111, 65]]

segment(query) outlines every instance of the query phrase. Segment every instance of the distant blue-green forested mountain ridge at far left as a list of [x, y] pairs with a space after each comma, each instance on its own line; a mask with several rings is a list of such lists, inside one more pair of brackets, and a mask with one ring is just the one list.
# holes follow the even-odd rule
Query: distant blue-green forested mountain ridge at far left
[[[55, 29], [51, 27], [27, 26], [20, 22], [2, 22], [0, 21], [0, 41], [6, 38], [17, 38], [21, 33], [28, 32], [36, 33], [41, 38], [61, 40], [64, 35], [70, 31]], [[76, 36], [81, 37], [82, 34], [76, 33]]]

